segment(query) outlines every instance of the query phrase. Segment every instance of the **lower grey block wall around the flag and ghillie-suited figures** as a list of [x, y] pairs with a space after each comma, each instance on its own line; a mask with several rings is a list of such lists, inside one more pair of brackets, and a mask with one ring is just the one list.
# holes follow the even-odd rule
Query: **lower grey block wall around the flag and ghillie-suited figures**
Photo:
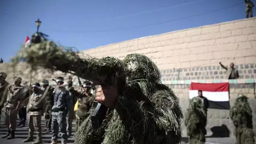
[[[185, 111], [189, 105], [189, 84], [171, 84], [169, 85], [180, 98], [180, 105], [182, 112]], [[255, 83], [237, 83], [229, 85], [230, 107], [233, 106], [239, 93], [243, 93], [249, 99], [248, 102], [253, 110], [253, 127], [256, 133], [256, 100], [255, 100]], [[229, 110], [208, 109], [207, 115], [207, 135], [229, 137], [234, 136], [234, 125], [229, 117]], [[187, 136], [186, 127], [182, 123], [183, 136]]]

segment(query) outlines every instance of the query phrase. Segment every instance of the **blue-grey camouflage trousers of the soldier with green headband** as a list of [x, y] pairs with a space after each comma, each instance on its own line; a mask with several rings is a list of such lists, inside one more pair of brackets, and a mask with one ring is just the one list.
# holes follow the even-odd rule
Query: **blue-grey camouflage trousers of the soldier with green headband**
[[61, 133], [61, 142], [67, 142], [67, 121], [66, 121], [67, 112], [59, 111], [59, 112], [52, 112], [52, 140], [58, 139], [58, 132], [60, 128]]

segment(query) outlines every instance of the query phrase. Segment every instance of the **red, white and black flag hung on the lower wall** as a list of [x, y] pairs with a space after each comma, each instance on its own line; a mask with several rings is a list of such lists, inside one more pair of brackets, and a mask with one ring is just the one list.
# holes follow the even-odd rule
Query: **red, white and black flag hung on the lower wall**
[[209, 101], [210, 109], [230, 109], [229, 83], [191, 83], [189, 89], [189, 99], [197, 97], [198, 90], [203, 91], [203, 96], [206, 97]]

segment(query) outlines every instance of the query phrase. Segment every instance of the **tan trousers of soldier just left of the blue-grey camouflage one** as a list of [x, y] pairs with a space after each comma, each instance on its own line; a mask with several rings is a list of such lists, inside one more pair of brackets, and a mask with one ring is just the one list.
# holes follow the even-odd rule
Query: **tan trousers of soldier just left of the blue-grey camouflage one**
[[29, 137], [33, 137], [34, 131], [37, 134], [37, 139], [42, 140], [42, 128], [41, 128], [41, 115], [30, 115], [28, 118]]

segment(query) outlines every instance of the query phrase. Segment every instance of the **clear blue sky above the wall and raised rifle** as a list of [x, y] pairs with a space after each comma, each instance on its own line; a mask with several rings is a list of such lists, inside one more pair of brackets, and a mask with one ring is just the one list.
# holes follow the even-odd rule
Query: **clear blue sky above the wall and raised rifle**
[[[255, 3], [255, 0], [254, 0]], [[255, 12], [254, 12], [255, 13]], [[36, 31], [79, 50], [245, 18], [244, 0], [0, 0], [0, 58]]]

